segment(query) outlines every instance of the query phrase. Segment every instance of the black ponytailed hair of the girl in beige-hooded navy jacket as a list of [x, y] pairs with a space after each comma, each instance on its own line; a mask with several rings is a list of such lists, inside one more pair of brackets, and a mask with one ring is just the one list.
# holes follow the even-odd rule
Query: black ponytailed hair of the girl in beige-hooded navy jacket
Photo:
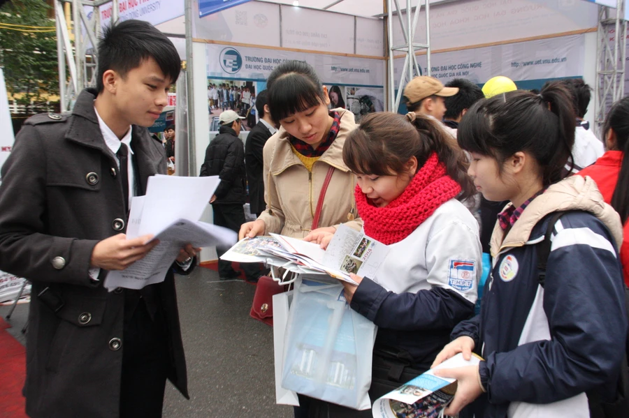
[[462, 149], [495, 158], [500, 170], [509, 156], [528, 152], [549, 186], [574, 168], [576, 119], [570, 92], [561, 81], [549, 82], [540, 94], [517, 90], [479, 100], [461, 119], [457, 140]]

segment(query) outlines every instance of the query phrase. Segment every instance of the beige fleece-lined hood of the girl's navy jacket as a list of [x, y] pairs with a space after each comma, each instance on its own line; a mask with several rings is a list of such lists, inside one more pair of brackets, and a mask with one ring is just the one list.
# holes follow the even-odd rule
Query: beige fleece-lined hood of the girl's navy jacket
[[[510, 205], [511, 203], [507, 207]], [[507, 248], [526, 244], [533, 227], [544, 216], [551, 212], [571, 210], [587, 211], [599, 218], [612, 233], [617, 248], [620, 248], [623, 242], [623, 224], [619, 214], [605, 203], [596, 183], [590, 177], [572, 176], [552, 184], [542, 195], [535, 197], [506, 237], [500, 223], [496, 222], [491, 234], [492, 257], [496, 258], [498, 253]]]

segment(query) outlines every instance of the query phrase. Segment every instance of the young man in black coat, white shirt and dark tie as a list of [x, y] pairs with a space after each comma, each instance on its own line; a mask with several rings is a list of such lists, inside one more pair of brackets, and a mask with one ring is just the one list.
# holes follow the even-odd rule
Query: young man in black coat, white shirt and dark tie
[[[145, 128], [180, 59], [163, 33], [127, 20], [99, 43], [97, 89], [71, 114], [28, 119], [2, 167], [0, 269], [33, 288], [24, 385], [29, 417], [161, 417], [166, 378], [188, 398], [173, 272], [142, 290], [103, 287], [157, 245], [127, 239], [129, 201], [166, 154]], [[190, 271], [198, 248], [173, 267]]]

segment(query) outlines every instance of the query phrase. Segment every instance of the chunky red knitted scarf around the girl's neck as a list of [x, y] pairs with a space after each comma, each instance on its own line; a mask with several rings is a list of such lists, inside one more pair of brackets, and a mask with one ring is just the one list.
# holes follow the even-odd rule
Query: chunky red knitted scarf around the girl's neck
[[365, 234], [388, 245], [408, 237], [460, 191], [461, 186], [446, 174], [445, 166], [433, 153], [403, 193], [385, 207], [375, 207], [368, 202], [359, 186], [356, 186], [354, 195]]

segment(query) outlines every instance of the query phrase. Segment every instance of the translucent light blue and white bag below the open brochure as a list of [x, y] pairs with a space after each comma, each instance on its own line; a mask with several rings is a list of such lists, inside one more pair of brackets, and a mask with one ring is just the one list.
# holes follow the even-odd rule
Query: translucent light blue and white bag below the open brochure
[[371, 408], [376, 326], [349, 308], [340, 284], [303, 279], [295, 289], [282, 387], [356, 410]]

